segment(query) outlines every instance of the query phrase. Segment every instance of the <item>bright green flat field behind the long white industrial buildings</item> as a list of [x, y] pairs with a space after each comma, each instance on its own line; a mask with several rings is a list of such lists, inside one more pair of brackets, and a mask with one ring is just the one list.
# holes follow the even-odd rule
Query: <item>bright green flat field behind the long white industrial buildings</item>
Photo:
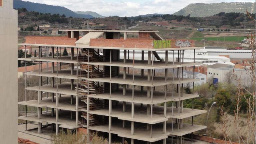
[[[244, 36], [229, 36], [229, 37], [225, 37], [225, 41], [227, 42], [241, 42], [241, 40], [244, 40], [246, 37]], [[198, 40], [201, 41], [202, 39], [204, 40], [208, 40], [208, 41], [224, 41], [224, 37], [212, 37], [212, 38], [191, 38], [191, 40]]]

